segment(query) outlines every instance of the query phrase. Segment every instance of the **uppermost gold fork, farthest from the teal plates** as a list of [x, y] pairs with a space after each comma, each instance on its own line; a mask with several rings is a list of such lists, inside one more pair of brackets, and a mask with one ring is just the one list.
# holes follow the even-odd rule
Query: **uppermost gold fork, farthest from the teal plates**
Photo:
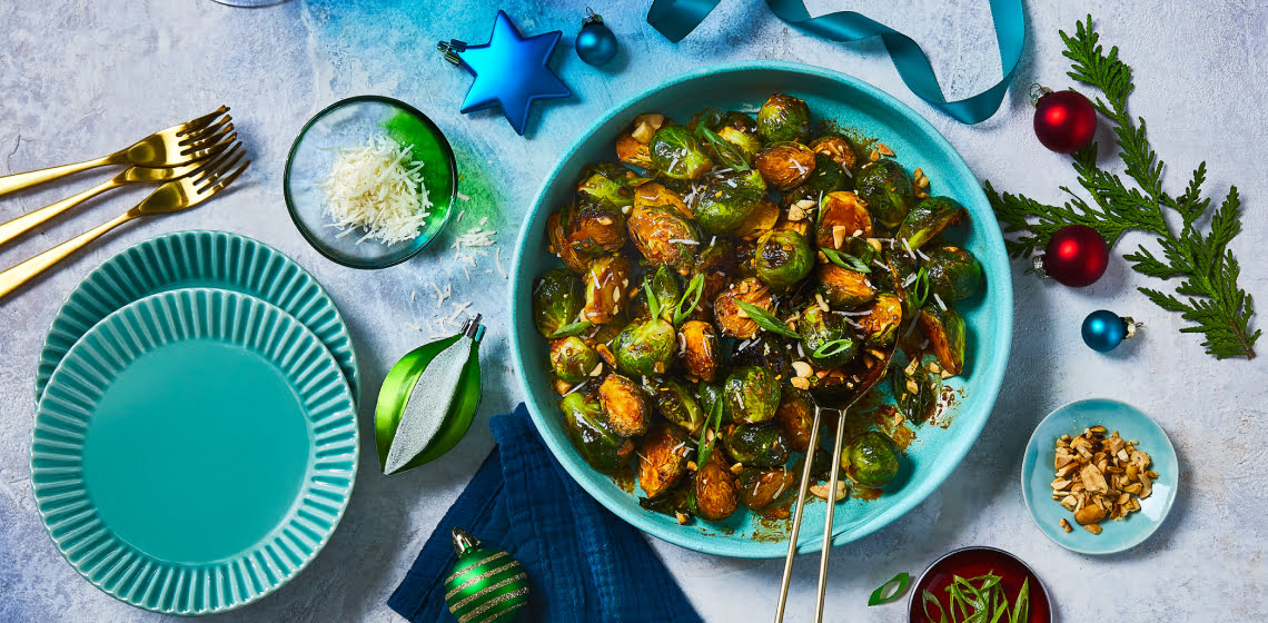
[[0, 195], [98, 166], [179, 166], [202, 160], [232, 142], [224, 138], [224, 134], [233, 131], [232, 117], [226, 114], [228, 110], [230, 107], [222, 105], [210, 114], [161, 129], [137, 141], [131, 147], [96, 160], [0, 176]]

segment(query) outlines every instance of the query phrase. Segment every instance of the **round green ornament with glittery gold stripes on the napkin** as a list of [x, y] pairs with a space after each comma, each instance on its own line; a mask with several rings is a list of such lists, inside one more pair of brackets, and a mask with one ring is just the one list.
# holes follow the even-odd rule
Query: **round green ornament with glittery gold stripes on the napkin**
[[454, 528], [458, 562], [445, 579], [445, 603], [458, 623], [512, 620], [529, 603], [529, 575], [506, 552], [479, 547], [479, 541]]

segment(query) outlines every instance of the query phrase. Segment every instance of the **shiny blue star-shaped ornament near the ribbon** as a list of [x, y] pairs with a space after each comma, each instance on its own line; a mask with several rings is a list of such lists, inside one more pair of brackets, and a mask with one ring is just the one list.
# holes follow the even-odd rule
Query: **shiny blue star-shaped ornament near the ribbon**
[[453, 48], [462, 66], [476, 76], [463, 102], [463, 114], [501, 107], [515, 133], [524, 136], [534, 102], [572, 96], [568, 85], [549, 67], [560, 34], [554, 30], [525, 38], [505, 11], [497, 11], [488, 43]]

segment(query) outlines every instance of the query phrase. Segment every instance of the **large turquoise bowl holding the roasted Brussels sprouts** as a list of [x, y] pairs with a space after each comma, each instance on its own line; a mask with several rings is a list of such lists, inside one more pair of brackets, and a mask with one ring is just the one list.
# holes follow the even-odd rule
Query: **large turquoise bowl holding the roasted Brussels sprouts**
[[[702, 108], [756, 108], [773, 91], [806, 100], [817, 118], [836, 119], [864, 136], [879, 138], [894, 150], [908, 170], [922, 167], [936, 193], [962, 203], [973, 222], [961, 242], [981, 261], [987, 280], [981, 294], [957, 306], [970, 331], [970, 369], [964, 378], [948, 383], [960, 396], [947, 412], [952, 424], [946, 429], [924, 426], [919, 430], [918, 440], [908, 448], [909, 471], [899, 476], [900, 486], [893, 486], [877, 500], [851, 499], [836, 506], [834, 544], [865, 537], [898, 519], [933, 492], [955, 469], [978, 439], [995, 403], [1013, 334], [1008, 255], [978, 179], [927, 121], [875, 86], [836, 71], [789, 62], [721, 65], [670, 79], [639, 93], [581, 132], [547, 176], [529, 209], [515, 255], [511, 340], [529, 412], [559, 463], [618, 516], [640, 530], [690, 549], [744, 558], [784, 556], [787, 551], [786, 529], [763, 525], [757, 514], [747, 511], [735, 513], [727, 521], [678, 525], [670, 516], [642, 509], [637, 495], [621, 490], [619, 483], [581, 458], [568, 440], [557, 407], [559, 396], [552, 390], [549, 379], [547, 343], [533, 325], [530, 289], [534, 277], [558, 266], [558, 260], [545, 250], [547, 217], [572, 199], [577, 175], [586, 164], [614, 160], [616, 136], [634, 115], [659, 112], [687, 119]], [[806, 506], [806, 529], [801, 530], [799, 551], [819, 549], [824, 519], [824, 504]]]

